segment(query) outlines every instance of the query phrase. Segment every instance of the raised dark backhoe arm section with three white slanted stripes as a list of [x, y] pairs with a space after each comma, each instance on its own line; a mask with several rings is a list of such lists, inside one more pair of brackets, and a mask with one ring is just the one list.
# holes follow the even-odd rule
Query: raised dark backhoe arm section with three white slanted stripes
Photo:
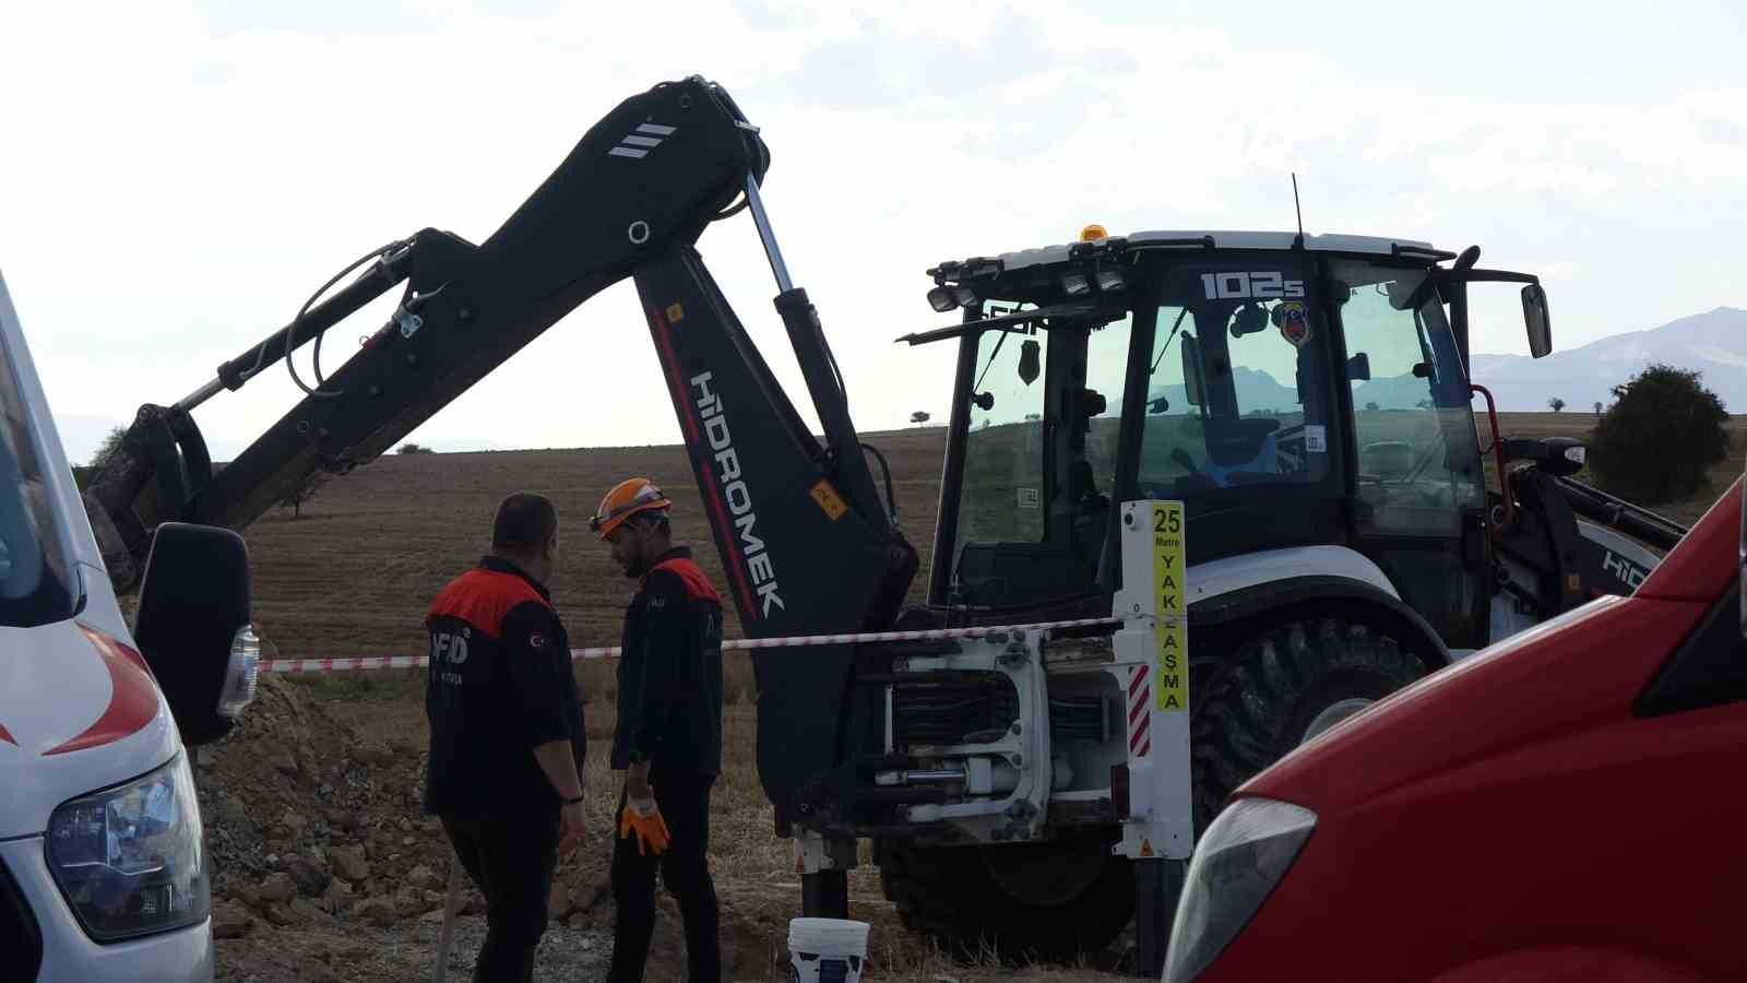
[[[428, 149], [451, 138], [438, 126]], [[157, 523], [243, 528], [313, 472], [374, 460], [580, 303], [694, 243], [767, 168], [723, 89], [664, 82], [596, 122], [484, 243], [421, 229], [384, 247], [358, 280], [187, 399], [140, 409], [86, 495], [117, 591], [136, 586]], [[390, 324], [215, 472], [190, 411], [397, 285]]]

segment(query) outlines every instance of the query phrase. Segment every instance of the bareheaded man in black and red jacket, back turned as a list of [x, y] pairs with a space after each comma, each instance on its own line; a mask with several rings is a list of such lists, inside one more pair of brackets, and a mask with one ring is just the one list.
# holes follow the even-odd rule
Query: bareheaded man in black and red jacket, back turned
[[583, 831], [582, 698], [545, 586], [557, 546], [549, 498], [507, 497], [491, 554], [451, 581], [425, 619], [425, 812], [442, 819], [486, 896], [475, 981], [533, 978], [557, 855]]

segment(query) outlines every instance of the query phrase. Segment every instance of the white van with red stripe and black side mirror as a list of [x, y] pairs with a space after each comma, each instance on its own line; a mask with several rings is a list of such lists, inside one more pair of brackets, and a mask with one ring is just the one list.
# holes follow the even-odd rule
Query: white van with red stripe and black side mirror
[[190, 749], [253, 700], [243, 539], [157, 528], [129, 630], [0, 278], [0, 980], [211, 980]]

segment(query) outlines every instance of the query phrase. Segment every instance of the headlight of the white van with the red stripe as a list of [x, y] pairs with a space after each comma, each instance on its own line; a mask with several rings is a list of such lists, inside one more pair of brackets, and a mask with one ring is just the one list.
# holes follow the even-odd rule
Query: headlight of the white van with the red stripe
[[143, 778], [61, 803], [49, 817], [47, 857], [100, 943], [194, 925], [211, 908], [201, 810], [182, 754]]

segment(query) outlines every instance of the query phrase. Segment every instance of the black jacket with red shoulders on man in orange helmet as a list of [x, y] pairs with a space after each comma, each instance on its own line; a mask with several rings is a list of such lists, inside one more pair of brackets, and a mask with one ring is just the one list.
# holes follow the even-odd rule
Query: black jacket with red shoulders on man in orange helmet
[[611, 766], [722, 773], [722, 595], [678, 546], [625, 609]]

